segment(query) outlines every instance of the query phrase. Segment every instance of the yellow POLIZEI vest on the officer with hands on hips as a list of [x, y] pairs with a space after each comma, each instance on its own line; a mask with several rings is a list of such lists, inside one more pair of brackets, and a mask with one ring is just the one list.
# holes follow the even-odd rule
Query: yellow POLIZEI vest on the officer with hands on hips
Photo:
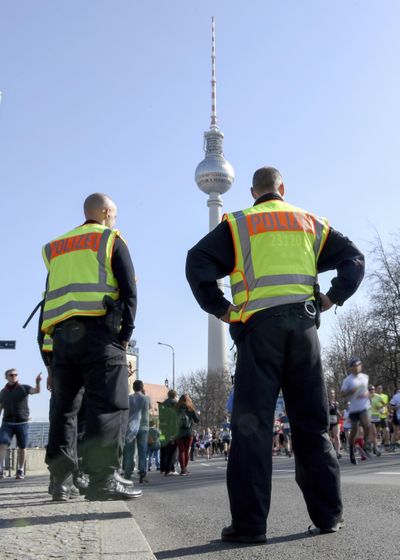
[[269, 200], [225, 214], [235, 248], [230, 275], [231, 322], [246, 322], [254, 313], [314, 298], [317, 260], [329, 233], [318, 218], [283, 200]]

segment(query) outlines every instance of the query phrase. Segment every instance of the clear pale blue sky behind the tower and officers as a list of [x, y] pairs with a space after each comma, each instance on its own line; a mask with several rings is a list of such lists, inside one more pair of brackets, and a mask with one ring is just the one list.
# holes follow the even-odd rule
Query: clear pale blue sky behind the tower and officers
[[[206, 366], [207, 317], [184, 265], [208, 228], [194, 170], [210, 124], [212, 15], [218, 122], [236, 172], [225, 210], [251, 205], [252, 174], [269, 164], [288, 201], [366, 253], [374, 229], [384, 240], [398, 230], [397, 0], [3, 1], [0, 339], [17, 350], [0, 350], [1, 372], [33, 384], [44, 369], [36, 319], [22, 330], [44, 287], [41, 247], [82, 222], [95, 191], [116, 201], [138, 276], [141, 377], [171, 375], [157, 341], [175, 347], [177, 375]], [[331, 312], [325, 345], [333, 322]], [[47, 392], [30, 405], [46, 418]]]

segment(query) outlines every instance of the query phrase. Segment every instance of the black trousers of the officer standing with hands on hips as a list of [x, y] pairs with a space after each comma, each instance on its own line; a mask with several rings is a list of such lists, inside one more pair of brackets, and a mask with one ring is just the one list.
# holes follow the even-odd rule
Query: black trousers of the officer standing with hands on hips
[[315, 320], [304, 304], [268, 310], [238, 342], [227, 485], [234, 528], [266, 532], [272, 437], [282, 388], [296, 482], [311, 520], [330, 527], [342, 516], [339, 464], [328, 436], [328, 398]]

